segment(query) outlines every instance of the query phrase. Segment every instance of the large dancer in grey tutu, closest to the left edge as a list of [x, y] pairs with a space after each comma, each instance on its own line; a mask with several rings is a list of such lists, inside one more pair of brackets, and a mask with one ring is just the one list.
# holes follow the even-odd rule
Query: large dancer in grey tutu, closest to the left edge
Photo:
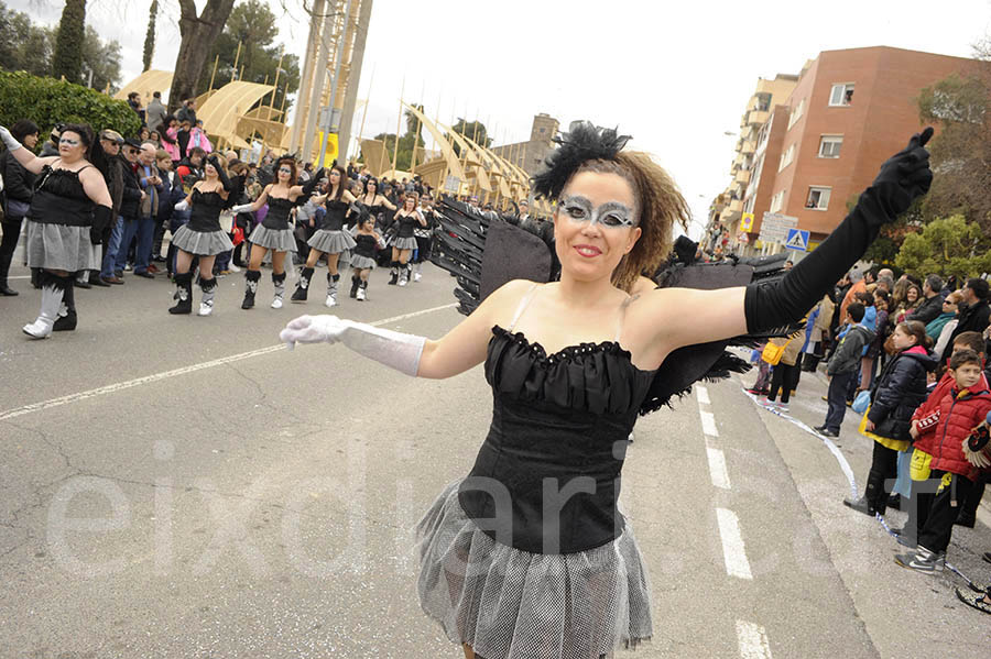
[[104, 178], [104, 150], [85, 124], [69, 124], [58, 155], [36, 157], [6, 128], [0, 139], [10, 154], [37, 175], [28, 212], [28, 265], [41, 268], [41, 311], [23, 331], [44, 339], [76, 329], [76, 273], [99, 267], [100, 240], [110, 226], [111, 200]]

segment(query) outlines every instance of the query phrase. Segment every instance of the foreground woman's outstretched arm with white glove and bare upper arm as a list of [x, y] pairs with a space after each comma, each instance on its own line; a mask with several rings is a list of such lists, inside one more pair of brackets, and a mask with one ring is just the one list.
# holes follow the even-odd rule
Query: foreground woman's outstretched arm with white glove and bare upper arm
[[486, 298], [471, 316], [437, 341], [383, 330], [337, 316], [301, 316], [279, 334], [295, 343], [344, 343], [355, 352], [406, 375], [435, 380], [451, 377], [484, 361], [492, 326], [500, 311], [519, 299], [531, 282], [518, 279]]

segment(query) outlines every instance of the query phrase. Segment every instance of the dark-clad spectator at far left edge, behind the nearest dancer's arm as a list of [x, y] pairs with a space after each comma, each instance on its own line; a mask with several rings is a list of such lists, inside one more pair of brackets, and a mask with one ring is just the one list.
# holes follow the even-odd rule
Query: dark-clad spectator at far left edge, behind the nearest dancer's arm
[[[37, 146], [39, 128], [33, 121], [19, 121], [10, 127], [10, 134], [29, 150]], [[7, 285], [10, 262], [13, 261], [21, 222], [31, 208], [34, 194], [34, 174], [24, 168], [9, 151], [0, 155], [0, 176], [3, 178], [3, 240], [0, 241], [0, 295], [13, 296], [18, 292]]]

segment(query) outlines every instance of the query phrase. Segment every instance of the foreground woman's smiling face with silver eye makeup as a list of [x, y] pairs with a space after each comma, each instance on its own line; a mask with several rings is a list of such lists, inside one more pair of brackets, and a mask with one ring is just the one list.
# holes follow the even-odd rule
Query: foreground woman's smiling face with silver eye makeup
[[562, 268], [579, 281], [609, 277], [640, 238], [633, 189], [617, 174], [581, 172], [554, 211]]

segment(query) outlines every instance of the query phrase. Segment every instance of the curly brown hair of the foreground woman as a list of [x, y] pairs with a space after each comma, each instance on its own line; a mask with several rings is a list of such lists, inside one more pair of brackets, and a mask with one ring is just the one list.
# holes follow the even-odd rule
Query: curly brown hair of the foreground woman
[[612, 273], [612, 284], [630, 293], [642, 274], [652, 275], [667, 260], [675, 223], [688, 229], [688, 202], [671, 175], [641, 151], [621, 151], [610, 161], [587, 161], [571, 177], [580, 172], [616, 174], [633, 188], [641, 235]]

